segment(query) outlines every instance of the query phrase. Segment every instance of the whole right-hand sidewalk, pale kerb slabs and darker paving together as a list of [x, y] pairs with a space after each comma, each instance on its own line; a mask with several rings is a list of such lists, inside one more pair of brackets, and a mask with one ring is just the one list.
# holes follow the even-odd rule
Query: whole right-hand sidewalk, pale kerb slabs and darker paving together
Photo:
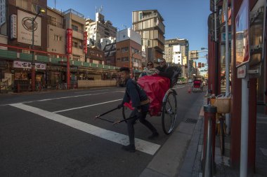
[[[204, 132], [203, 106], [207, 99], [197, 100], [183, 121], [171, 134], [157, 155], [140, 177], [200, 177], [202, 176], [202, 145]], [[200, 110], [201, 107], [201, 110]], [[197, 109], [198, 108], [198, 109]], [[195, 111], [195, 110], [200, 110]], [[197, 112], [197, 113], [196, 113]], [[190, 119], [190, 123], [188, 120]], [[194, 121], [195, 120], [195, 121]], [[196, 122], [196, 124], [192, 123]], [[256, 173], [254, 177], [267, 176], [267, 116], [257, 115], [256, 127]], [[225, 137], [225, 154], [221, 156], [219, 136], [216, 136], [216, 177], [239, 177], [239, 169], [230, 167], [230, 135]], [[174, 153], [175, 149], [175, 153]]]

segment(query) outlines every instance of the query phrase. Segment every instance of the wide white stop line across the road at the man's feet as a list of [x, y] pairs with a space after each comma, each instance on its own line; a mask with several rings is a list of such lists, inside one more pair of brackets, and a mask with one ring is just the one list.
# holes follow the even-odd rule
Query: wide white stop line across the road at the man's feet
[[[86, 124], [85, 122], [81, 122], [79, 120], [67, 118], [63, 115], [44, 111], [44, 110], [39, 109], [39, 108], [27, 106], [25, 104], [10, 104], [10, 106], [14, 106], [15, 108], [20, 108], [24, 111], [28, 111], [28, 112], [40, 115], [44, 118], [48, 118], [49, 120], [60, 122], [64, 125], [67, 125], [69, 127], [74, 128], [74, 129], [79, 129], [82, 132], [86, 132], [88, 134], [98, 136], [98, 137], [100, 137], [102, 139], [106, 139], [108, 141], [112, 141], [112, 142], [119, 143], [122, 145], [129, 144], [129, 137], [124, 135], [124, 134], [119, 134], [117, 132], [112, 132], [112, 131], [107, 130], [107, 129], [102, 129], [100, 127]], [[142, 139], [135, 139], [135, 142], [136, 142], [136, 150], [140, 150], [141, 152], [147, 153], [149, 155], [154, 155], [160, 147], [160, 145], [158, 145], [158, 144], [150, 143], [150, 142], [144, 141]]]

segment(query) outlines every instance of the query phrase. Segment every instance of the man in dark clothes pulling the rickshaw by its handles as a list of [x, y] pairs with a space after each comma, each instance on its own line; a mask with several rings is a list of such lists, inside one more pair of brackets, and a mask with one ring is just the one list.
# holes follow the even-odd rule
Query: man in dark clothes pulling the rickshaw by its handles
[[155, 127], [150, 122], [148, 122], [148, 120], [145, 120], [149, 108], [149, 99], [147, 94], [136, 83], [136, 81], [130, 78], [130, 69], [128, 67], [122, 67], [119, 69], [119, 71], [121, 72], [121, 77], [124, 79], [126, 83], [126, 91], [124, 94], [124, 99], [122, 101], [122, 104], [119, 104], [118, 108], [122, 108], [122, 106], [124, 106], [124, 103], [128, 103], [129, 101], [131, 101], [134, 109], [131, 112], [130, 117], [136, 116], [135, 118], [127, 120], [127, 128], [128, 128], [130, 143], [128, 146], [122, 146], [122, 149], [129, 152], [135, 152], [136, 146], [134, 143], [133, 125], [136, 122], [136, 120], [139, 119], [139, 121], [143, 125], [145, 125], [145, 127], [148, 127], [148, 129], [150, 129], [150, 131], [152, 132], [152, 135], [148, 136], [148, 139], [154, 139], [155, 137], [159, 136], [159, 134], [157, 133], [157, 129], [155, 129]]

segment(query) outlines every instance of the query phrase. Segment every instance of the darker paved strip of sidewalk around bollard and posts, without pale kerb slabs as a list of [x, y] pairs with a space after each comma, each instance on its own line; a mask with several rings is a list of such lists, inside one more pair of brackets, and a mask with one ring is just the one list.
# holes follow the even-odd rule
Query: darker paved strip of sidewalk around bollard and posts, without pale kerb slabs
[[[205, 103], [206, 101], [204, 101]], [[185, 155], [183, 166], [177, 176], [181, 177], [200, 177], [202, 176], [202, 145], [204, 131], [204, 114], [200, 113], [195, 127], [193, 138], [190, 141], [188, 152]], [[257, 114], [256, 125], [256, 173], [255, 177], [267, 176], [267, 116], [261, 113]], [[225, 154], [221, 155], [219, 136], [216, 136], [215, 163], [216, 177], [239, 177], [239, 169], [230, 168], [230, 136], [225, 137]]]

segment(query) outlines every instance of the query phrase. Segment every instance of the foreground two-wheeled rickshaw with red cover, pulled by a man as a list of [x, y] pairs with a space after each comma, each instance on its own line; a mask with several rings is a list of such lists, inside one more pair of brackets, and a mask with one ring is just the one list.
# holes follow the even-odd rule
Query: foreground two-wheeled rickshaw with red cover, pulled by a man
[[[172, 73], [171, 78], [164, 78], [161, 76], [143, 76], [138, 79], [137, 83], [148, 94], [150, 99], [150, 116], [160, 116], [162, 118], [162, 129], [164, 134], [171, 134], [174, 129], [177, 119], [177, 93], [174, 90], [178, 76], [181, 74], [181, 68], [177, 66], [170, 66], [167, 72]], [[114, 108], [106, 113], [96, 116], [100, 120], [112, 122], [116, 125], [120, 122], [126, 122], [131, 119], [129, 117], [133, 108], [130, 103], [125, 103], [122, 107], [123, 120], [113, 121], [105, 118], [101, 118], [102, 115], [115, 111]]]

